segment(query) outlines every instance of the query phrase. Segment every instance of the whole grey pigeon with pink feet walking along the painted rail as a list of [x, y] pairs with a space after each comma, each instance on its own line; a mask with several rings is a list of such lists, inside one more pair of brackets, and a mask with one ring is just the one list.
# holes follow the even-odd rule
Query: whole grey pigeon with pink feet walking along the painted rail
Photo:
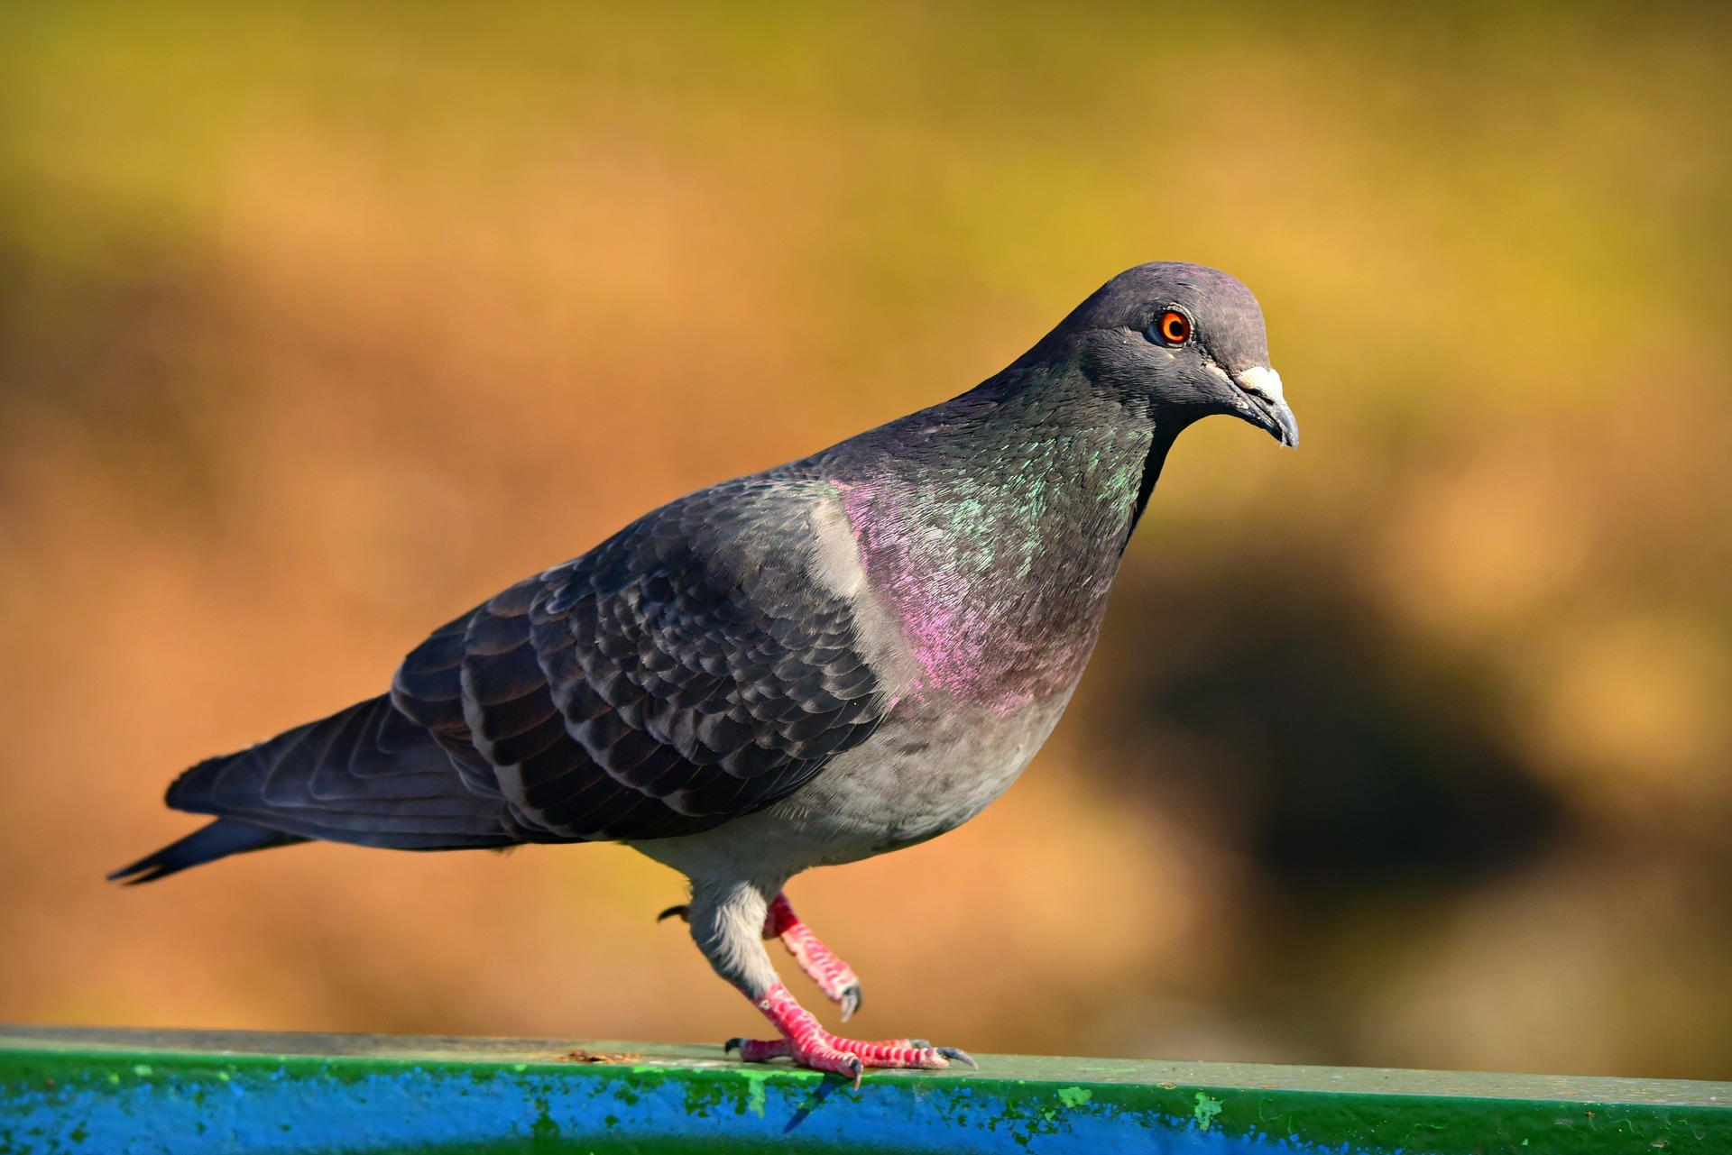
[[854, 971], [783, 894], [935, 838], [1022, 772], [1100, 634], [1174, 438], [1230, 414], [1299, 443], [1263, 310], [1200, 265], [1129, 268], [1003, 372], [811, 457], [674, 500], [435, 630], [388, 693], [185, 771], [216, 821], [111, 874], [308, 840], [622, 842], [681, 871], [710, 966], [776, 1037], [743, 1061], [973, 1065], [824, 1030]]

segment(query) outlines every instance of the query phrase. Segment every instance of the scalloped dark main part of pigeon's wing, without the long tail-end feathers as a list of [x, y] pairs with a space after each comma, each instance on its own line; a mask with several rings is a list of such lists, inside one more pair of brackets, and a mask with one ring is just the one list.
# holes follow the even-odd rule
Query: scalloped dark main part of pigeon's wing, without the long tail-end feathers
[[826, 483], [743, 478], [443, 627], [391, 701], [490, 771], [476, 784], [497, 783], [525, 842], [698, 833], [785, 798], [889, 712], [866, 597]]

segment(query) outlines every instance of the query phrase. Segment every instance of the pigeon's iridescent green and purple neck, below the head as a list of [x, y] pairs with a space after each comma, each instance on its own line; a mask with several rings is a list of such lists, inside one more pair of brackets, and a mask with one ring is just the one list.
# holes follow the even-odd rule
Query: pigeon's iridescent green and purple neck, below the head
[[1176, 429], [1081, 374], [1005, 377], [826, 455], [918, 693], [1069, 694]]

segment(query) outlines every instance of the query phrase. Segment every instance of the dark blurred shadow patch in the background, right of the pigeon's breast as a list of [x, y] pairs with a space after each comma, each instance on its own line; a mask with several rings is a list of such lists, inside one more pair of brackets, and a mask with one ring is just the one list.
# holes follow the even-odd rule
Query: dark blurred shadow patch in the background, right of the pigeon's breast
[[1225, 833], [1304, 909], [1472, 883], [1545, 847], [1561, 800], [1500, 741], [1469, 672], [1415, 661], [1346, 575], [1302, 554], [1223, 561], [1128, 582], [1143, 613], [1095, 707], [1126, 762], [1114, 786], [1230, 816]]

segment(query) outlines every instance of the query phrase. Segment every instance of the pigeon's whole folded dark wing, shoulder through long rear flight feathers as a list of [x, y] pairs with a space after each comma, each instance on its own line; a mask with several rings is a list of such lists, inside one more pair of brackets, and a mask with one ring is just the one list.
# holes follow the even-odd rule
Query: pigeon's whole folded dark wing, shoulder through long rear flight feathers
[[854, 549], [824, 502], [760, 476], [665, 506], [435, 630], [386, 698], [192, 767], [170, 805], [409, 849], [660, 838], [771, 805], [894, 701], [819, 580]]

